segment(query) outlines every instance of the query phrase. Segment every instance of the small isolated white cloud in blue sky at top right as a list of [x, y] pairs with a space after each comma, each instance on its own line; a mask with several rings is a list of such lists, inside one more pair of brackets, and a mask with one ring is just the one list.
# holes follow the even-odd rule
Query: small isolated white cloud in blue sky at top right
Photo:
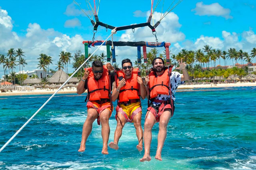
[[230, 9], [222, 7], [219, 3], [213, 3], [210, 5], [205, 5], [203, 2], [196, 3], [196, 8], [191, 11], [195, 11], [195, 15], [199, 16], [218, 16], [224, 17], [225, 19], [232, 19], [230, 15]]

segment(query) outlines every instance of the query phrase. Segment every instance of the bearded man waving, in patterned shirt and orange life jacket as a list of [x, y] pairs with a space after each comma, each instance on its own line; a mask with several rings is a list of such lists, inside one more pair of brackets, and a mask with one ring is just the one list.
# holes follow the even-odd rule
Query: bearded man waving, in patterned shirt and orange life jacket
[[153, 68], [149, 71], [149, 75], [145, 78], [145, 89], [148, 91], [148, 99], [150, 100], [149, 108], [147, 109], [145, 124], [144, 124], [144, 148], [145, 153], [141, 162], [150, 161], [150, 144], [152, 140], [152, 128], [155, 123], [159, 122], [158, 144], [155, 159], [162, 161], [161, 152], [166, 139], [166, 128], [174, 113], [174, 93], [179, 85], [189, 79], [186, 70], [186, 63], [179, 62], [177, 70], [172, 72], [172, 66], [164, 66], [164, 60], [157, 57], [153, 60]]

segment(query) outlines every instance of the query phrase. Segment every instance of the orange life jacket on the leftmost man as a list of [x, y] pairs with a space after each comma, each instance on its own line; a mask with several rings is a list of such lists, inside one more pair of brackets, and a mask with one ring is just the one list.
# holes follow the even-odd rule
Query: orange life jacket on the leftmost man
[[87, 78], [87, 91], [89, 95], [89, 101], [109, 99], [109, 74], [106, 65], [103, 65], [103, 74], [101, 78], [96, 80], [92, 71], [92, 67], [87, 68], [90, 71], [89, 77]]

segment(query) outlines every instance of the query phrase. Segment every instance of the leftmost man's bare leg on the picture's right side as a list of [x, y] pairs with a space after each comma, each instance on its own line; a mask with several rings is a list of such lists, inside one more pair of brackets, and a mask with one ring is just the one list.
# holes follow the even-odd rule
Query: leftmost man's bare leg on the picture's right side
[[108, 154], [108, 139], [109, 139], [109, 117], [110, 117], [110, 111], [108, 109], [105, 109], [100, 114], [100, 122], [101, 122], [101, 136], [103, 139], [103, 148], [102, 148], [102, 154]]

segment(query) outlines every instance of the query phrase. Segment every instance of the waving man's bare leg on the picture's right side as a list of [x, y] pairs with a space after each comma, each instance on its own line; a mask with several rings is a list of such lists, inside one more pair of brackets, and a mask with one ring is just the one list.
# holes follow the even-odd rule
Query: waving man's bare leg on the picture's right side
[[166, 128], [171, 119], [171, 109], [165, 109], [159, 121], [159, 132], [157, 138], [157, 150], [155, 159], [162, 161], [161, 153], [166, 139]]

